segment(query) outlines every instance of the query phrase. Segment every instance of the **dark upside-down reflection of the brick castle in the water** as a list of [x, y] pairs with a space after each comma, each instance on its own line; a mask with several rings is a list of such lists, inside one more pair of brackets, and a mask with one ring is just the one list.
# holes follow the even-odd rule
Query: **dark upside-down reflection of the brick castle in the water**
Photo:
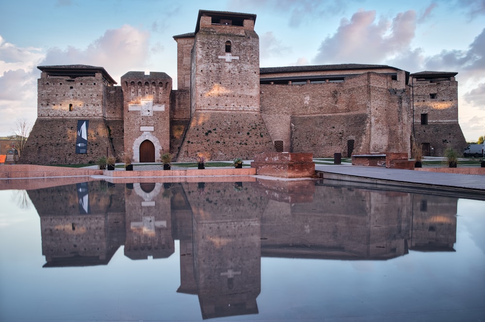
[[454, 251], [457, 198], [319, 181], [88, 182], [30, 190], [44, 267], [168, 258], [204, 318], [258, 312], [260, 259], [388, 260]]

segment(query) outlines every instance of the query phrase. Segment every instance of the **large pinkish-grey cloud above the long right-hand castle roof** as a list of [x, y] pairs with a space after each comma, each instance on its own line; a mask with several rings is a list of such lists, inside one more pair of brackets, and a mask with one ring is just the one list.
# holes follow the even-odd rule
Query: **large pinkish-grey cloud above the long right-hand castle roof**
[[376, 22], [375, 11], [359, 10], [340, 21], [337, 32], [321, 43], [315, 63], [379, 63], [408, 50], [416, 30], [416, 12]]

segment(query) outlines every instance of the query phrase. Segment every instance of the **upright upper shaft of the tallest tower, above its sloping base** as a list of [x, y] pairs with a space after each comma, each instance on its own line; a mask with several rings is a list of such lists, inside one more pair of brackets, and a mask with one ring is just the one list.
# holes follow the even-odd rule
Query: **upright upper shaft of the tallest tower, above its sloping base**
[[200, 10], [192, 50], [195, 110], [259, 111], [256, 15]]

